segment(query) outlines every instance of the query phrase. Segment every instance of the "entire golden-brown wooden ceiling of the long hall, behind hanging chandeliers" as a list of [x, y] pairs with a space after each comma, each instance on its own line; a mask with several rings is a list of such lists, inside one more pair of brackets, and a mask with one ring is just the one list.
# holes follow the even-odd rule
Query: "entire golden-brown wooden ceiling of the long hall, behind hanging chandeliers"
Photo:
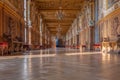
[[[43, 21], [52, 34], [57, 33], [59, 24], [61, 34], [65, 34], [74, 19], [79, 15], [85, 0], [33, 0]], [[56, 13], [61, 10], [62, 20], [59, 20]]]

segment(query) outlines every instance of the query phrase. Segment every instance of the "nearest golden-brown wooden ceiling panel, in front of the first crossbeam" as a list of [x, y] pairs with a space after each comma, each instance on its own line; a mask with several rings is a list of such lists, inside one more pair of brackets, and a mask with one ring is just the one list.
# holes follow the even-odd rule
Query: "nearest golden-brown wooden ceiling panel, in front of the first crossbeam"
[[62, 6], [63, 9], [78, 9], [80, 10], [84, 0], [35, 0], [39, 9], [59, 9]]

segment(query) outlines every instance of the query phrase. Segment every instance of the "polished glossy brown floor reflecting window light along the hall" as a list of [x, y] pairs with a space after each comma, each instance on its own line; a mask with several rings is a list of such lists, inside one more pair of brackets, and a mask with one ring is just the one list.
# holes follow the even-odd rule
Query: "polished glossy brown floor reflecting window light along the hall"
[[120, 80], [120, 55], [49, 49], [0, 57], [0, 80]]

